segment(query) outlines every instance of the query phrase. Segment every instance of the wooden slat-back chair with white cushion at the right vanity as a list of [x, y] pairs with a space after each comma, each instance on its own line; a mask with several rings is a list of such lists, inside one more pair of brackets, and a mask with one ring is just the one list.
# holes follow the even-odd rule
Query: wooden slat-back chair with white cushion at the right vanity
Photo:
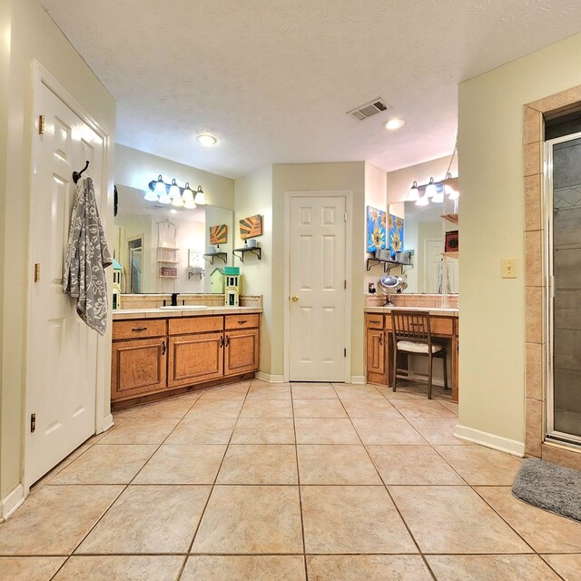
[[428, 375], [414, 373], [414, 376], [419, 375], [428, 379], [428, 399], [432, 399], [432, 361], [435, 357], [443, 359], [444, 387], [448, 389], [446, 347], [432, 341], [429, 313], [417, 310], [392, 310], [391, 329], [393, 333], [393, 390], [397, 389], [398, 378], [416, 379], [410, 377], [409, 369], [398, 369], [398, 353], [428, 357]]

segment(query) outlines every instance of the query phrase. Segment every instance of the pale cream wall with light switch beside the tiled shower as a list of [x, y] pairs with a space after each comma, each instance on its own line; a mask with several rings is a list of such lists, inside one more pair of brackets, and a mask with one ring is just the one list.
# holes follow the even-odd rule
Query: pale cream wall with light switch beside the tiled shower
[[578, 84], [581, 34], [459, 87], [459, 423], [508, 443], [525, 431], [523, 105]]

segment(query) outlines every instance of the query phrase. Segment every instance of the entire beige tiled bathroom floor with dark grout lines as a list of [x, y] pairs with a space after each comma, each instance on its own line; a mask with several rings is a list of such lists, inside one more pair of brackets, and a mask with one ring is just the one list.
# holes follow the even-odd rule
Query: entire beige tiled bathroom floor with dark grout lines
[[441, 390], [208, 389], [114, 414], [0, 525], [0, 581], [581, 581]]

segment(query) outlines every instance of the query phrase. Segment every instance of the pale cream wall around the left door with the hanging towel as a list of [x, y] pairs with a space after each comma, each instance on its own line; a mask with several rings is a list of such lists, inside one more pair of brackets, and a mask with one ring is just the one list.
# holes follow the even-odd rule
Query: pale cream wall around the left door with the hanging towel
[[[115, 102], [37, 0], [0, 3], [0, 500], [21, 481], [25, 396], [26, 282], [29, 280], [28, 183], [32, 133], [32, 62], [36, 58], [109, 134], [109, 208], [102, 212], [113, 238]], [[6, 64], [9, 71], [6, 72]], [[7, 81], [7, 83], [6, 83]], [[9, 92], [7, 91], [9, 88]], [[6, 193], [10, 193], [9, 212]]]

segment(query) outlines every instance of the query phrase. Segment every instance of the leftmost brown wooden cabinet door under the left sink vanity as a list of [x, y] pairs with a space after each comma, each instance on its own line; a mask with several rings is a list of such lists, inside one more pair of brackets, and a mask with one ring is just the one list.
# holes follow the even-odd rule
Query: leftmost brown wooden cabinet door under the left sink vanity
[[165, 338], [114, 341], [112, 401], [166, 389], [166, 358]]

